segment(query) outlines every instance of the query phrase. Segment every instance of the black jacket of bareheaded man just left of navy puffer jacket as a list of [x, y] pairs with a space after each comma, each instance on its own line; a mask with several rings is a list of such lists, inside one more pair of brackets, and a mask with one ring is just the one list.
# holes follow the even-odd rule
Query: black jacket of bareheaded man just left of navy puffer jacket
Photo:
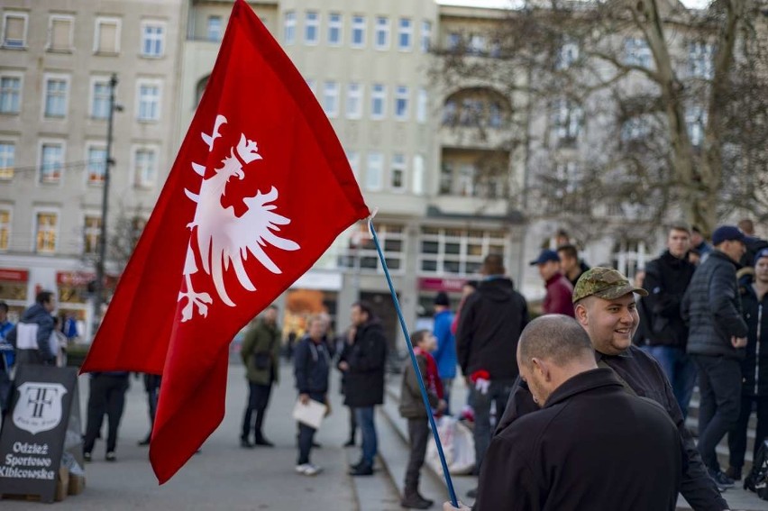
[[665, 251], [659, 259], [645, 265], [641, 314], [645, 314], [640, 344], [686, 347], [688, 325], [682, 320], [680, 305], [696, 267], [688, 259], [678, 259]]

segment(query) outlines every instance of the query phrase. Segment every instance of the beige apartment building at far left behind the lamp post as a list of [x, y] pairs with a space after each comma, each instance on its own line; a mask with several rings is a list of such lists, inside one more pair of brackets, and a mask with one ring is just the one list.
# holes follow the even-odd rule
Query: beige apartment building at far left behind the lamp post
[[[36, 292], [90, 337], [87, 284], [101, 233], [110, 78], [114, 133], [107, 225], [151, 213], [176, 144], [181, 0], [8, 0], [0, 9], [0, 300]], [[109, 246], [109, 242], [107, 245]], [[108, 251], [111, 252], [111, 251]], [[118, 268], [107, 261], [107, 285]]]

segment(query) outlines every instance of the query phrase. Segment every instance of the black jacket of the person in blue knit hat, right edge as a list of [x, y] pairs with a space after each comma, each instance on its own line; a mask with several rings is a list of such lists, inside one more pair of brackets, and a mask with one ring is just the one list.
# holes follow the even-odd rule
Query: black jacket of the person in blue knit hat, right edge
[[768, 396], [768, 294], [757, 299], [752, 284], [742, 287], [741, 305], [749, 328], [741, 363], [742, 394]]

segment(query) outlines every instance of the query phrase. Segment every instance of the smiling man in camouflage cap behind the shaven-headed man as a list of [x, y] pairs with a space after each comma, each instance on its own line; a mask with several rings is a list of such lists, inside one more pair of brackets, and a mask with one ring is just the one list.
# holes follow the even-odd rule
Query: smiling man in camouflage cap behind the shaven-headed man
[[[614, 371], [630, 394], [648, 397], [659, 403], [677, 425], [685, 449], [688, 468], [682, 474], [681, 494], [694, 511], [722, 511], [728, 508], [718, 487], [709, 478], [699, 451], [693, 443], [680, 406], [659, 363], [632, 345], [640, 323], [635, 293], [647, 292], [635, 287], [615, 269], [595, 267], [585, 271], [573, 288], [576, 320], [590, 335], [599, 367]], [[538, 410], [526, 382], [518, 379], [501, 421], [498, 434], [517, 418]], [[606, 410], [610, 413], [610, 410]], [[631, 442], [632, 439], [627, 439]]]

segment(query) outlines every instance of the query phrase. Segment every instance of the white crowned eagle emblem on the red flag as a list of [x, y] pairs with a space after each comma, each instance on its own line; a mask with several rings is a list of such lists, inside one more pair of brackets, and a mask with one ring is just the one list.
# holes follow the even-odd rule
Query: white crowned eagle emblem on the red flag
[[[213, 151], [216, 139], [221, 138], [219, 128], [226, 122], [224, 115], [217, 115], [213, 132], [210, 135], [201, 133], [209, 152]], [[271, 187], [267, 194], [262, 194], [260, 191], [256, 196], [245, 197], [243, 203], [248, 206], [248, 210], [242, 216], [234, 213], [233, 206], [222, 205], [222, 197], [226, 194], [229, 179], [244, 178], [243, 165], [255, 160], [261, 160], [256, 142], [248, 140], [245, 134], [241, 133], [237, 147], [233, 147], [230, 155], [222, 160], [222, 167], [214, 169], [214, 176], [203, 178], [200, 192], [194, 194], [187, 189], [184, 190], [187, 196], [197, 203], [197, 209], [195, 218], [187, 224], [192, 235], [187, 246], [187, 260], [184, 264], [187, 290], [178, 293], [179, 302], [187, 299], [187, 305], [181, 311], [182, 322], [192, 319], [196, 310], [198, 315], [205, 317], [208, 314], [208, 304], [213, 303], [213, 298], [208, 293], [197, 293], [192, 288], [192, 275], [199, 270], [195, 251], [192, 248], [193, 238], [197, 240], [202, 268], [212, 278], [216, 293], [227, 306], [235, 305], [224, 287], [224, 271], [229, 269], [230, 265], [240, 285], [249, 291], [255, 291], [256, 287], [243, 266], [249, 252], [261, 262], [264, 268], [279, 274], [282, 271], [264, 251], [267, 243], [284, 251], [296, 251], [300, 248], [297, 242], [280, 238], [274, 233], [279, 232], [279, 225], [290, 224], [288, 218], [272, 212], [277, 207], [270, 204], [278, 198], [277, 188]], [[206, 174], [205, 165], [192, 163], [192, 169], [201, 177]]]

